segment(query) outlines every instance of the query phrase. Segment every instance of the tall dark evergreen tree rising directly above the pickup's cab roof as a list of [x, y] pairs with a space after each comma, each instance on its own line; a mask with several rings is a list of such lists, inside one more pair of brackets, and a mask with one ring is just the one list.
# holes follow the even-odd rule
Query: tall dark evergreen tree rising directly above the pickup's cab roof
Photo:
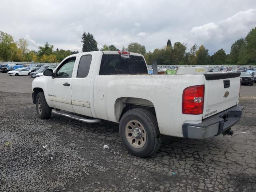
[[98, 51], [98, 43], [89, 32], [88, 34], [86, 32], [83, 33], [81, 42], [83, 43], [82, 52]]

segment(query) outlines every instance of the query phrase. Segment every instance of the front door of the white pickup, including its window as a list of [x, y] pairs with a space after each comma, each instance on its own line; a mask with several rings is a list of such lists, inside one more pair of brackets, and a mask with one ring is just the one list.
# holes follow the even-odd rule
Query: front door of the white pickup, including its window
[[74, 112], [71, 104], [71, 84], [76, 56], [67, 58], [58, 66], [55, 78], [50, 77], [47, 84], [48, 100], [57, 109]]

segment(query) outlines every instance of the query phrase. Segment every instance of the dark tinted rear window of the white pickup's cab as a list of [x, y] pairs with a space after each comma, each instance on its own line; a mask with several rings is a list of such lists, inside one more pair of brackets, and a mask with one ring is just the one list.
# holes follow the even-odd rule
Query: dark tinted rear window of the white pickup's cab
[[99, 75], [148, 74], [146, 62], [142, 56], [104, 54]]

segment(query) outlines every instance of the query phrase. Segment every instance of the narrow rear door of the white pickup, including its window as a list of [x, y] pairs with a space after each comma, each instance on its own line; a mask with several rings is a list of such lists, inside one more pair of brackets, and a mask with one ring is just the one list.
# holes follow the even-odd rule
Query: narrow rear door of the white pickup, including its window
[[80, 54], [77, 65], [76, 74], [72, 81], [72, 106], [75, 113], [92, 116], [90, 106], [90, 89], [92, 78], [92, 66], [95, 61], [96, 54]]

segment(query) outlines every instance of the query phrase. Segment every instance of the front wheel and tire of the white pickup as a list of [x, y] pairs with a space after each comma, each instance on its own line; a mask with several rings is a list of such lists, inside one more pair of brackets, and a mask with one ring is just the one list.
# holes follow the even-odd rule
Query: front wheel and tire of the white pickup
[[49, 119], [52, 114], [52, 109], [45, 100], [44, 92], [39, 92], [36, 95], [36, 112], [40, 119]]

